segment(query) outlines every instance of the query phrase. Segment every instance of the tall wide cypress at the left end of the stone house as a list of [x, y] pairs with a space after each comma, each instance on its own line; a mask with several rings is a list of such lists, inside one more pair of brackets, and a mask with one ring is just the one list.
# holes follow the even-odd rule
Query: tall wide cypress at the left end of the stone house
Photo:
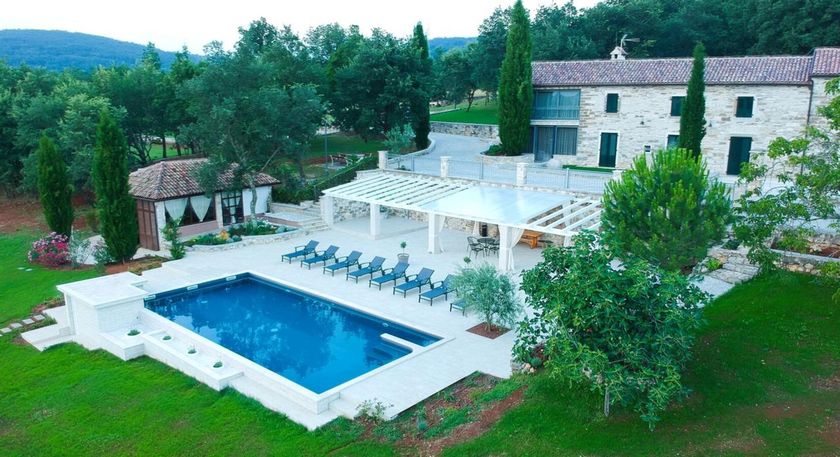
[[532, 100], [531, 24], [522, 0], [517, 0], [511, 13], [507, 50], [499, 77], [499, 138], [505, 155], [525, 152]]

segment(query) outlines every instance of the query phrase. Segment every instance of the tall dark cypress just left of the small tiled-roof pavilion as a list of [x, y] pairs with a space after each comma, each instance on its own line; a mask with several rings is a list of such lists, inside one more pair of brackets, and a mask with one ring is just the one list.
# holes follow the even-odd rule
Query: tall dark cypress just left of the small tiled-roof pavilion
[[131, 260], [137, 252], [139, 234], [136, 202], [129, 195], [129, 147], [107, 110], [99, 116], [93, 185], [97, 192], [99, 232], [108, 254], [118, 262]]

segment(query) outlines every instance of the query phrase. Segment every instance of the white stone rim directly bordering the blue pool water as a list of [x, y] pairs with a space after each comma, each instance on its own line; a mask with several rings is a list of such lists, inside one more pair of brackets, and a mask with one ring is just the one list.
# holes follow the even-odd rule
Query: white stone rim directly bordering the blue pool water
[[[380, 312], [378, 312], [378, 311], [376, 311], [376, 310], [374, 310], [370, 307], [365, 307], [365, 306], [356, 304], [354, 302], [349, 302], [349, 301], [344, 300], [342, 298], [334, 297], [330, 294], [319, 292], [319, 291], [313, 290], [313, 289], [311, 289], [309, 287], [306, 287], [306, 286], [300, 286], [298, 284], [295, 284], [295, 283], [292, 283], [292, 282], [289, 282], [289, 281], [284, 281], [281, 278], [278, 278], [276, 276], [270, 276], [270, 275], [266, 275], [266, 274], [259, 273], [259, 272], [256, 272], [256, 271], [250, 271], [250, 270], [244, 270], [244, 271], [238, 271], [236, 273], [228, 273], [228, 274], [224, 274], [224, 275], [213, 276], [213, 277], [209, 277], [205, 280], [202, 280], [200, 282], [187, 283], [183, 286], [175, 287], [175, 288], [172, 288], [172, 289], [167, 290], [167, 291], [149, 293], [149, 294], [147, 294], [146, 297], [144, 297], [144, 303], [146, 301], [146, 298], [150, 297], [150, 296], [155, 296], [157, 294], [163, 294], [163, 293], [171, 292], [171, 291], [178, 290], [178, 289], [186, 289], [187, 287], [197, 286], [197, 285], [200, 285], [200, 284], [205, 283], [205, 282], [223, 280], [223, 279], [226, 279], [226, 278], [229, 278], [229, 277], [232, 277], [232, 276], [239, 276], [239, 275], [244, 275], [244, 274], [249, 274], [251, 276], [258, 277], [258, 278], [260, 278], [264, 281], [274, 282], [274, 283], [279, 284], [281, 286], [288, 287], [288, 288], [290, 288], [292, 290], [295, 290], [295, 291], [298, 291], [298, 292], [307, 293], [307, 294], [310, 294], [312, 296], [322, 298], [323, 300], [327, 300], [329, 302], [334, 302], [334, 303], [338, 304], [339, 306], [348, 307], [351, 310], [354, 310], [354, 311], [357, 311], [357, 312], [360, 312], [360, 313], [365, 313], [365, 314], [373, 316], [375, 318], [385, 320], [386, 322], [396, 323], [397, 325], [400, 325], [402, 327], [406, 327], [406, 328], [413, 329], [413, 330], [416, 330], [416, 331], [419, 331], [419, 332], [423, 332], [424, 334], [428, 334], [428, 335], [431, 335], [435, 338], [438, 338], [438, 341], [434, 342], [433, 344], [429, 344], [428, 346], [420, 346], [418, 344], [412, 344], [411, 342], [408, 342], [404, 339], [400, 339], [399, 337], [396, 337], [395, 335], [392, 335], [392, 334], [381, 334], [381, 338], [383, 340], [391, 342], [393, 344], [402, 345], [403, 347], [405, 347], [407, 349], [411, 349], [411, 352], [407, 355], [403, 355], [402, 357], [397, 358], [396, 360], [391, 360], [390, 362], [386, 363], [385, 365], [381, 365], [379, 367], [376, 367], [373, 370], [367, 371], [367, 372], [361, 374], [360, 376], [356, 376], [352, 379], [349, 379], [348, 381], [344, 381], [343, 383], [339, 384], [338, 386], [334, 386], [334, 387], [328, 389], [327, 391], [323, 391], [321, 393], [316, 393], [314, 391], [311, 391], [311, 390], [307, 389], [307, 387], [304, 387], [300, 384], [297, 384], [297, 382], [291, 381], [288, 378], [277, 374], [275, 371], [272, 371], [272, 370], [269, 370], [268, 368], [265, 368], [265, 366], [260, 365], [253, 360], [249, 360], [248, 358], [244, 357], [243, 355], [237, 354], [236, 352], [234, 352], [231, 349], [225, 348], [221, 344], [215, 343], [215, 342], [211, 341], [210, 339], [207, 339], [207, 338], [203, 337], [202, 335], [193, 332], [189, 328], [183, 327], [180, 324], [175, 323], [175, 322], [171, 321], [170, 319], [165, 318], [158, 313], [155, 313], [154, 311], [151, 311], [150, 309], [148, 309], [146, 307], [143, 307], [143, 309], [140, 311], [141, 322], [143, 322], [148, 328], [151, 329], [150, 334], [157, 334], [157, 333], [159, 333], [160, 328], [164, 328], [166, 330], [171, 329], [171, 331], [173, 333], [178, 334], [182, 339], [192, 339], [195, 343], [203, 346], [202, 351], [206, 351], [207, 353], [218, 354], [218, 356], [219, 356], [218, 358], [223, 360], [223, 363], [225, 365], [231, 364], [231, 365], [234, 365], [234, 367], [237, 367], [237, 365], [239, 365], [239, 367], [237, 367], [237, 368], [243, 369], [243, 375], [244, 376], [249, 377], [252, 381], [256, 381], [256, 382], [260, 383], [260, 385], [265, 386], [266, 388], [270, 389], [271, 391], [276, 391], [276, 393], [280, 393], [281, 395], [289, 397], [289, 399], [292, 402], [296, 402], [301, 407], [305, 407], [307, 410], [309, 410], [310, 412], [313, 412], [315, 414], [327, 411], [328, 408], [329, 408], [329, 404], [331, 402], [334, 402], [334, 401], [338, 400], [341, 397], [341, 395], [340, 395], [341, 391], [343, 391], [344, 389], [347, 389], [350, 386], [354, 386], [355, 384], [357, 384], [361, 381], [365, 381], [365, 380], [367, 380], [367, 379], [369, 379], [373, 376], [381, 374], [381, 372], [383, 372], [383, 371], [390, 370], [391, 368], [394, 368], [395, 366], [400, 365], [401, 363], [404, 363], [407, 360], [411, 360], [411, 359], [413, 359], [413, 358], [415, 358], [419, 355], [423, 355], [426, 352], [428, 352], [429, 350], [438, 348], [438, 347], [442, 346], [443, 344], [447, 344], [447, 343], [449, 343], [449, 341], [452, 341], [452, 340], [455, 339], [455, 337], [442, 335], [442, 334], [439, 334], [439, 332], [434, 332], [434, 331], [429, 330], [428, 328], [423, 328], [423, 326], [418, 326], [414, 323], [409, 323], [409, 322], [407, 322], [405, 320], [402, 320], [400, 318], [395, 318], [393, 316], [389, 316], [389, 315], [386, 315], [384, 313], [380, 313]], [[163, 361], [165, 361], [165, 363], [167, 363], [167, 365], [172, 365], [169, 362], [169, 360], [163, 360]], [[179, 367], [176, 367], [176, 368], [179, 368]], [[193, 377], [196, 377], [196, 376], [193, 376]], [[207, 383], [207, 381], [204, 381], [204, 382]], [[211, 383], [207, 383], [207, 384], [213, 386], [217, 390], [220, 390], [221, 388], [224, 387], [224, 386], [221, 386], [221, 385], [213, 385]], [[257, 398], [257, 400], [260, 400], [260, 399]]]

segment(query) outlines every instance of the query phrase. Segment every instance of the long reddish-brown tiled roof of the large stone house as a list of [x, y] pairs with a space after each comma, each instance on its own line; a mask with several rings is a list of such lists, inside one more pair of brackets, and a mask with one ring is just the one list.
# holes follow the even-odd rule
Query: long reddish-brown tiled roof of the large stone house
[[[687, 84], [691, 63], [690, 57], [536, 61], [533, 85]], [[811, 74], [840, 74], [840, 48], [817, 48], [814, 55], [706, 58], [706, 84], [807, 84]]]

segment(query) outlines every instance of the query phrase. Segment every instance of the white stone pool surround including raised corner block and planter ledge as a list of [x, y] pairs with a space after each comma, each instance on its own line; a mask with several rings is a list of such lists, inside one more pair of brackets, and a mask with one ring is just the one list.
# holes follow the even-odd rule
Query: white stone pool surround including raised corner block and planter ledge
[[[260, 274], [255, 271], [229, 273], [208, 278], [206, 281], [202, 281], [202, 283], [224, 280], [231, 276], [244, 274], [249, 274], [280, 286], [286, 286], [299, 292], [311, 294], [312, 296], [328, 302], [334, 302], [340, 306], [348, 307], [374, 318], [429, 334], [435, 338], [439, 338], [439, 340], [424, 347], [418, 344], [412, 344], [391, 334], [382, 334], [382, 338], [386, 341], [411, 349], [412, 352], [318, 394], [147, 309], [145, 307], [147, 297], [165, 292], [152, 294], [145, 291], [144, 286], [146, 280], [141, 276], [134, 275], [134, 273], [118, 273], [116, 275], [72, 282], [60, 285], [58, 289], [65, 295], [72, 339], [87, 349], [105, 349], [122, 360], [131, 360], [142, 355], [148, 355], [155, 360], [160, 360], [166, 365], [170, 365], [176, 370], [180, 370], [188, 376], [192, 376], [217, 391], [226, 387], [232, 387], [241, 391], [245, 395], [255, 398], [255, 400], [262, 403], [265, 407], [283, 412], [292, 420], [303, 423], [310, 429], [328, 422], [328, 420], [336, 415], [344, 415], [345, 417], [352, 418], [355, 411], [353, 409], [353, 412], [349, 412], [347, 411], [347, 407], [337, 408], [335, 411], [332, 411], [334, 414], [323, 414], [330, 412], [330, 404], [341, 398], [342, 390], [371, 376], [376, 376], [382, 371], [389, 370], [406, 360], [417, 357], [417, 355], [421, 355], [428, 350], [446, 344], [451, 340], [451, 338], [446, 338], [426, 328], [418, 327], [415, 324], [407, 323], [401, 319], [383, 315], [382, 313], [377, 313], [369, 307], [363, 307], [353, 302], [332, 297], [308, 287], [292, 284], [280, 278]], [[175, 290], [188, 286], [191, 285], [187, 284]], [[129, 336], [128, 333], [132, 329], [136, 329], [140, 333]], [[171, 336], [171, 339], [164, 340], [163, 337], [167, 334]], [[189, 354], [188, 349], [195, 349], [195, 351]], [[222, 362], [222, 367], [213, 368], [213, 365], [218, 361]], [[250, 391], [239, 389], [236, 380], [240, 377], [255, 382], [257, 385], [263, 387], [263, 389]], [[278, 408], [276, 407], [277, 399], [269, 398], [269, 396], [283, 397], [290, 403], [284, 405], [285, 407]], [[375, 392], [372, 392], [370, 398], [372, 397], [375, 397]], [[359, 400], [364, 401], [367, 399], [362, 398]], [[352, 405], [354, 408], [356, 402], [353, 400], [350, 400], [350, 402], [354, 403]], [[272, 405], [275, 407], [272, 407]], [[306, 417], [309, 414], [315, 417]]]

